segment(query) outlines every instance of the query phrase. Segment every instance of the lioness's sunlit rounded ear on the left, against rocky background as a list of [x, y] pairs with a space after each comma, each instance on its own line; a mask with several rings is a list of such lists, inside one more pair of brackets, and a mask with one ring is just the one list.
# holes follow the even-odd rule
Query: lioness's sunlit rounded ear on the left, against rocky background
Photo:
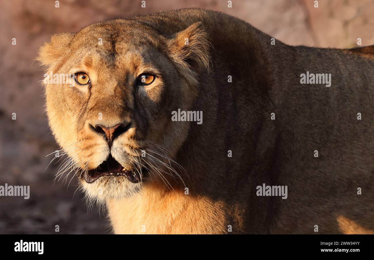
[[45, 43], [39, 49], [37, 60], [40, 61], [45, 67], [52, 67], [67, 51], [74, 33], [59, 33], [52, 36], [49, 43]]

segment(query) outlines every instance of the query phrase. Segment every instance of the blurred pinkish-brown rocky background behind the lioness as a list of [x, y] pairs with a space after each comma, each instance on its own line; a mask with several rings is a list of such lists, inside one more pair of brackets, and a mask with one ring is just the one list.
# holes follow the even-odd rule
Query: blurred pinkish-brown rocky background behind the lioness
[[[44, 72], [34, 58], [50, 36], [105, 19], [200, 7], [237, 16], [289, 44], [332, 48], [374, 44], [373, 0], [0, 0], [0, 185], [30, 185], [30, 199], [0, 197], [0, 233], [110, 233], [105, 212], [53, 178], [56, 146], [44, 113]], [[16, 45], [12, 45], [16, 38]], [[16, 113], [16, 120], [12, 120]], [[70, 178], [67, 180], [70, 181]], [[73, 196], [74, 195], [74, 196]]]

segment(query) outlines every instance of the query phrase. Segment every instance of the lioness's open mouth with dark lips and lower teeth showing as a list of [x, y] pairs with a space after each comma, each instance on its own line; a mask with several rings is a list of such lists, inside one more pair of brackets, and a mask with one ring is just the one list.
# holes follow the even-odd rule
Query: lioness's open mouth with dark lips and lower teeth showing
[[108, 159], [102, 162], [98, 168], [87, 171], [84, 174], [84, 178], [86, 183], [93, 183], [102, 176], [124, 176], [132, 183], [138, 183], [142, 181], [142, 177], [147, 172], [148, 170], [144, 167], [142, 169], [126, 170], [119, 162], [109, 155]]

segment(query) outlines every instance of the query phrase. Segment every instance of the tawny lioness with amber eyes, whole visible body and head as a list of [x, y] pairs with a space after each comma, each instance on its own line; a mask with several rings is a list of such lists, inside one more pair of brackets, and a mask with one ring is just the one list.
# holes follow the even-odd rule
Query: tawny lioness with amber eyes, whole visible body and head
[[54, 35], [38, 59], [71, 75], [44, 81], [49, 125], [115, 233], [373, 232], [374, 61], [359, 49], [182, 9]]

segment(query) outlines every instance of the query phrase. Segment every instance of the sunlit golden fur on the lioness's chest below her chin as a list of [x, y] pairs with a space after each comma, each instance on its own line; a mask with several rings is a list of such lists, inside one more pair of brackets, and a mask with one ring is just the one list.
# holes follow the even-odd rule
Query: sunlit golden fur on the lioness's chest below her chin
[[227, 223], [220, 204], [149, 185], [131, 198], [108, 201], [107, 207], [117, 234], [223, 233]]

